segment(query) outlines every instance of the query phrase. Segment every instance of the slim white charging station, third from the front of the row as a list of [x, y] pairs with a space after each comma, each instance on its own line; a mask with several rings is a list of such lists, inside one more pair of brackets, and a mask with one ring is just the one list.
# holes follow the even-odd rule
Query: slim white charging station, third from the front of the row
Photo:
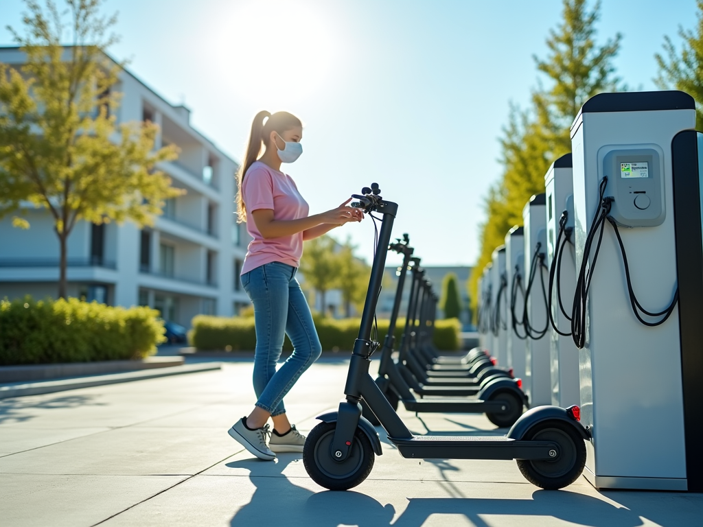
[[[548, 281], [546, 266], [547, 221], [544, 194], [532, 196], [522, 209], [524, 223], [525, 393], [532, 406], [552, 403], [549, 365], [548, 314], [542, 285]], [[531, 287], [530, 287], [531, 286]]]

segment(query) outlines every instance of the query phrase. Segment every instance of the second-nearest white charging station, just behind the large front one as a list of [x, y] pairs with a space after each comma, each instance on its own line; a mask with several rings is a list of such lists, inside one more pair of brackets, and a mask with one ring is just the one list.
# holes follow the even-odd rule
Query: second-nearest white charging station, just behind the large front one
[[[553, 286], [550, 288], [552, 324], [548, 331], [552, 404], [567, 408], [581, 404], [579, 349], [571, 337], [570, 320], [576, 290], [574, 181], [570, 153], [552, 163], [544, 176], [544, 183], [547, 203], [547, 265], [553, 270], [550, 273], [550, 285]], [[557, 243], [558, 247], [555, 246]]]

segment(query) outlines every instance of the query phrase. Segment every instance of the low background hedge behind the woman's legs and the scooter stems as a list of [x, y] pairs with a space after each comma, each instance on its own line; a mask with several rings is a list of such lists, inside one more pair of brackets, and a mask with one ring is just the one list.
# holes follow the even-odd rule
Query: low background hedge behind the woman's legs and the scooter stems
[[[322, 349], [326, 351], [350, 351], [359, 334], [359, 318], [317, 318], [317, 328]], [[400, 319], [396, 325], [396, 349], [400, 344], [405, 320]], [[388, 332], [389, 321], [378, 320], [379, 340], [383, 341]], [[459, 349], [459, 332], [461, 326], [456, 318], [437, 320], [434, 328], [434, 345], [438, 349], [453, 351]], [[193, 330], [188, 334], [191, 345], [200, 350], [252, 351], [256, 346], [253, 317], [224, 318], [198, 315], [193, 318]], [[291, 351], [288, 337], [283, 345], [285, 351]]]

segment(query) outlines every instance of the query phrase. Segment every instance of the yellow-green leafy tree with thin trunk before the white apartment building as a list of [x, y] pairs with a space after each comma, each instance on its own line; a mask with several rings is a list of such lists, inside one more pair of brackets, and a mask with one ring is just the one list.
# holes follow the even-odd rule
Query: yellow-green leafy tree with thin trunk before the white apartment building
[[[174, 147], [154, 151], [157, 127], [117, 124], [114, 88], [123, 64], [105, 50], [116, 18], [102, 17], [103, 0], [26, 0], [25, 35], [8, 28], [26, 54], [16, 69], [0, 64], [0, 216], [22, 202], [49, 209], [60, 247], [59, 297], [66, 297], [67, 238], [78, 221], [131, 219], [153, 223], [164, 200], [181, 194], [155, 164]], [[60, 44], [72, 30], [72, 46]], [[15, 226], [27, 228], [15, 216]]]

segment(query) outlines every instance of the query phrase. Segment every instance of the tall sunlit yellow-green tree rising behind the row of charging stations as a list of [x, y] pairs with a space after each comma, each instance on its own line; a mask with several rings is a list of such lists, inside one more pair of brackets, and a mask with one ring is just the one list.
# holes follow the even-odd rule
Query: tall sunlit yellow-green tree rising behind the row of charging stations
[[618, 89], [612, 59], [620, 34], [605, 44], [595, 43], [600, 2], [588, 11], [586, 0], [563, 0], [562, 23], [550, 30], [546, 58], [534, 57], [547, 86], [538, 84], [527, 110], [511, 105], [501, 143], [501, 181], [484, 201], [486, 221], [479, 225], [481, 254], [469, 281], [472, 311], [476, 312], [477, 284], [493, 250], [508, 230], [522, 225], [522, 209], [529, 198], [544, 192], [544, 174], [558, 157], [571, 151], [570, 125], [588, 98]]

